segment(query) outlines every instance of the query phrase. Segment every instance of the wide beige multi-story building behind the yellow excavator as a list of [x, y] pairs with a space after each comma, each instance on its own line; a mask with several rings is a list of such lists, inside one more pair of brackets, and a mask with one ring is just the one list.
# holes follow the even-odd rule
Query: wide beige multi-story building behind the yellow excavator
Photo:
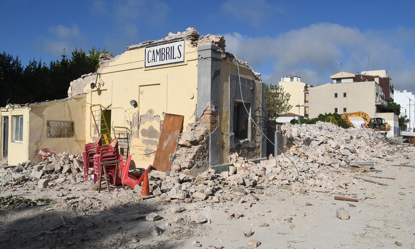
[[[350, 113], [362, 111], [371, 118], [384, 118], [391, 125], [388, 136], [398, 133], [398, 118], [387, 113], [387, 101], [382, 87], [376, 81], [362, 80], [360, 74], [339, 72], [330, 76], [333, 83], [309, 89], [309, 118], [325, 113]], [[363, 124], [361, 118], [351, 118], [356, 127]]]

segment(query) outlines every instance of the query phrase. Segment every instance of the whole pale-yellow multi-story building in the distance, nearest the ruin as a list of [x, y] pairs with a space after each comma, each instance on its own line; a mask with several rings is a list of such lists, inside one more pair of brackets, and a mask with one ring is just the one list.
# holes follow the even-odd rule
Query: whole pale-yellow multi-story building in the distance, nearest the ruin
[[284, 88], [284, 92], [290, 93], [290, 100], [288, 103], [292, 108], [286, 113], [293, 116], [308, 117], [308, 89], [311, 85], [301, 82], [301, 77], [284, 75], [278, 83], [279, 87]]

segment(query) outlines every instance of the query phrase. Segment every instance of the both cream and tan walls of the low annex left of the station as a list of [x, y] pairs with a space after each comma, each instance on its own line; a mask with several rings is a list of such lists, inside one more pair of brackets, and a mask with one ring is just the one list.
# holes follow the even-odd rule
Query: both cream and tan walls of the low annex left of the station
[[[37, 152], [43, 148], [58, 153], [64, 151], [82, 153], [85, 145], [85, 112], [85, 95], [78, 95], [71, 99], [31, 104], [28, 107], [1, 109], [1, 121], [4, 116], [9, 117], [8, 163], [13, 165], [25, 160], [30, 160], [33, 163], [40, 162], [41, 158]], [[20, 115], [23, 115], [24, 122], [23, 142], [18, 143], [13, 141], [13, 117]], [[48, 138], [48, 121], [73, 122], [73, 137]], [[2, 136], [2, 134], [0, 135]]]

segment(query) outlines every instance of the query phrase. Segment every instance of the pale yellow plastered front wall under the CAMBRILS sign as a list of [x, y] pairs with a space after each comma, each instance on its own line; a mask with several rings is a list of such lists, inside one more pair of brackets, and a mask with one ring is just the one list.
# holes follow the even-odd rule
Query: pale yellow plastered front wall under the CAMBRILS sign
[[[184, 130], [195, 121], [197, 103], [197, 48], [185, 41], [185, 61], [144, 68], [145, 48], [129, 50], [107, 67], [98, 71], [99, 90], [85, 90], [87, 95], [86, 138], [96, 139], [90, 115], [91, 104], [102, 104], [111, 110], [111, 131], [114, 127], [131, 130], [130, 154], [136, 167], [153, 163], [160, 123], [165, 113], [184, 116]], [[131, 106], [130, 100], [138, 105]], [[151, 110], [150, 110], [151, 109]]]

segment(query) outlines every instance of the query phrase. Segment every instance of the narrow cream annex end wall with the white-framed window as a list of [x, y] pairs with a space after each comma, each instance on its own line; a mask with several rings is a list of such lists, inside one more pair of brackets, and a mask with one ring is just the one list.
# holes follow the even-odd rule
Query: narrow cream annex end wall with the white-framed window
[[[23, 142], [14, 142], [14, 117], [23, 115]], [[26, 161], [29, 158], [28, 143], [29, 143], [29, 109], [26, 107], [18, 108], [3, 108], [0, 110], [1, 119], [1, 157], [3, 156], [3, 117], [9, 117], [9, 132], [8, 132], [8, 164], [16, 165], [19, 162]]]

